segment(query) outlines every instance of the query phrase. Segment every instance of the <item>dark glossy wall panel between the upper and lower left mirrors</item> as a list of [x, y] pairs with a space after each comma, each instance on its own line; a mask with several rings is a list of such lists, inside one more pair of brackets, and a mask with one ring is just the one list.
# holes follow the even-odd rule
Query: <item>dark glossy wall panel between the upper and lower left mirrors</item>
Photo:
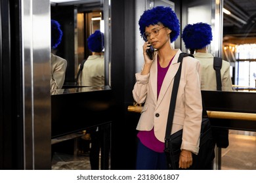
[[52, 138], [112, 122], [112, 90], [52, 95]]

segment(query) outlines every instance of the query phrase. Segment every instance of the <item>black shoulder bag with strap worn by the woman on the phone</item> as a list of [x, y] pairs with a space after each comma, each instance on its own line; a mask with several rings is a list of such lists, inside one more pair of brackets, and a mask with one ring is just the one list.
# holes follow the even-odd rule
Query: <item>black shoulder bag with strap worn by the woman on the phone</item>
[[[175, 75], [173, 84], [173, 92], [171, 94], [171, 102], [169, 107], [169, 115], [167, 119], [167, 126], [165, 131], [165, 155], [167, 158], [167, 165], [169, 169], [179, 169], [179, 157], [181, 154], [182, 143], [182, 129], [176, 133], [171, 134], [171, 127], [173, 124], [173, 115], [175, 111], [175, 104], [177, 92], [179, 88], [179, 81], [181, 78], [182, 59], [184, 56], [191, 56], [191, 54], [181, 53], [178, 62], [181, 62], [179, 70]], [[214, 148], [215, 142], [211, 131], [211, 123], [207, 116], [207, 112], [203, 105], [203, 118], [200, 133], [200, 150], [198, 155], [192, 154], [193, 164], [188, 169], [211, 169], [211, 163], [215, 158]]]

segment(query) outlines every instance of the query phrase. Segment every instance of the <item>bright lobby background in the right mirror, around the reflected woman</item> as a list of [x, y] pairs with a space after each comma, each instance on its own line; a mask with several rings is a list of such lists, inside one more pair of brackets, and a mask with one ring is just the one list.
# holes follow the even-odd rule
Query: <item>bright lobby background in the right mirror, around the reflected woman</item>
[[256, 1], [223, 0], [213, 5], [212, 1], [196, 0], [187, 1], [186, 5], [188, 24], [205, 22], [213, 28], [209, 50], [215, 56], [221, 52], [221, 57], [230, 63], [233, 91], [255, 92]]

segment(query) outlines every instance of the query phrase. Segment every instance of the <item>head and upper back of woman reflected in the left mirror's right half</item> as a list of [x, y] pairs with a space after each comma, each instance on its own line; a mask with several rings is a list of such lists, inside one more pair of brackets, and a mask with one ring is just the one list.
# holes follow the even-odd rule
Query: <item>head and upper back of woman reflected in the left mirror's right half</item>
[[88, 48], [93, 52], [83, 65], [83, 71], [79, 76], [79, 86], [104, 86], [104, 34], [99, 30], [87, 39]]

